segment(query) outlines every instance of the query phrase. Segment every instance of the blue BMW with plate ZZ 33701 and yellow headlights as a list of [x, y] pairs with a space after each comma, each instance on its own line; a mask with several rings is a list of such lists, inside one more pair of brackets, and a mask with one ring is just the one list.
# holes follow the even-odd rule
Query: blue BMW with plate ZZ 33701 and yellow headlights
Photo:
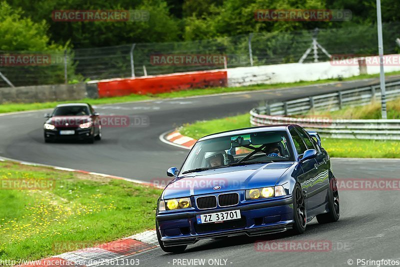
[[291, 231], [316, 217], [337, 221], [339, 196], [316, 132], [298, 125], [251, 127], [199, 139], [158, 199], [165, 252], [204, 238]]

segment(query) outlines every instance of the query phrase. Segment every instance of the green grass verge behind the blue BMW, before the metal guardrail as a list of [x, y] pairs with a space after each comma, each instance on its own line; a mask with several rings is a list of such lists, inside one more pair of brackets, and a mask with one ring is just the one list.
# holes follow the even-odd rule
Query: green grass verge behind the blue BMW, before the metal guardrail
[[[216, 132], [250, 127], [250, 115], [243, 114], [223, 119], [199, 121], [185, 124], [179, 132], [195, 139]], [[400, 158], [400, 141], [375, 141], [359, 139], [333, 139], [321, 140], [331, 157], [345, 158]]]

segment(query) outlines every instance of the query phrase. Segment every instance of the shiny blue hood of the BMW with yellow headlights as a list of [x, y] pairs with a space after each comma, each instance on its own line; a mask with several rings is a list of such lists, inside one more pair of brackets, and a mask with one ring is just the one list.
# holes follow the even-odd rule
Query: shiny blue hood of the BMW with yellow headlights
[[[188, 173], [172, 180], [163, 199], [274, 186], [294, 162], [275, 162]], [[214, 190], [215, 186], [220, 186]]]

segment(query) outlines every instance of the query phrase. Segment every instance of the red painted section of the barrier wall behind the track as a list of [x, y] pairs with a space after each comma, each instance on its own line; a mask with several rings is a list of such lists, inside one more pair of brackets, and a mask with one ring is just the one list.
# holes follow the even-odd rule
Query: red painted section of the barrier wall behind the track
[[98, 82], [98, 97], [159, 94], [191, 88], [225, 87], [226, 71], [139, 77]]

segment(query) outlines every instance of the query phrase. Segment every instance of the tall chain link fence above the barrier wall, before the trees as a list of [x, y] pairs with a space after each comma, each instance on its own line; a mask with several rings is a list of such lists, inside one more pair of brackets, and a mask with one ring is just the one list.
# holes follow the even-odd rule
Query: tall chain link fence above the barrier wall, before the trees
[[[383, 25], [384, 53], [399, 53], [396, 39], [400, 23]], [[316, 40], [320, 47], [313, 47]], [[229, 38], [174, 43], [140, 43], [58, 52], [0, 51], [0, 87], [74, 83], [85, 80], [128, 78], [146, 75], [328, 61], [328, 55], [376, 55], [376, 26], [357, 26], [312, 31], [254, 33]], [[325, 53], [324, 51], [325, 50]], [[328, 55], [327, 55], [327, 53]], [[50, 55], [48, 64], [9, 64], [9, 55]], [[154, 55], [223, 56], [216, 64], [154, 64]], [[5, 58], [4, 58], [5, 57]], [[4, 64], [4, 59], [8, 64]], [[2, 74], [2, 75], [1, 75]], [[1, 79], [3, 78], [3, 79]], [[6, 79], [9, 83], [6, 82]]]

